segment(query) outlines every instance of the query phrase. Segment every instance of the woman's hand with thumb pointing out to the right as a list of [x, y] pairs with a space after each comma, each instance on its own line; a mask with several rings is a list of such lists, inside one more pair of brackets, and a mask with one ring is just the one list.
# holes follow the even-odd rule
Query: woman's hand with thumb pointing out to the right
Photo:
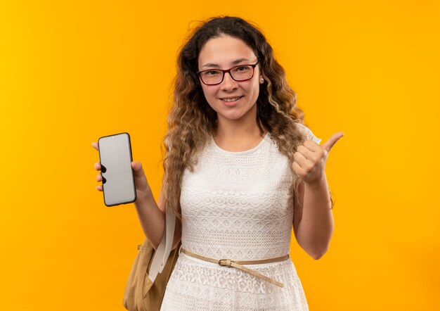
[[322, 146], [314, 141], [306, 140], [304, 144], [297, 147], [297, 152], [293, 154], [292, 168], [305, 184], [316, 184], [325, 177], [328, 153], [344, 135], [342, 132], [332, 134]]

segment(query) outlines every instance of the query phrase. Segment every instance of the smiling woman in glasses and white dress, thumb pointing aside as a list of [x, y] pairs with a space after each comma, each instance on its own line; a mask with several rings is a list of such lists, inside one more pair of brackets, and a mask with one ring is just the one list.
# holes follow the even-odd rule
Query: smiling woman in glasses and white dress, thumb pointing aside
[[161, 310], [308, 310], [289, 256], [291, 231], [314, 259], [328, 249], [325, 163], [344, 134], [320, 146], [295, 99], [271, 46], [245, 20], [212, 18], [188, 37], [157, 203], [141, 163], [131, 163], [136, 210], [153, 246], [165, 208], [178, 217], [181, 250]]

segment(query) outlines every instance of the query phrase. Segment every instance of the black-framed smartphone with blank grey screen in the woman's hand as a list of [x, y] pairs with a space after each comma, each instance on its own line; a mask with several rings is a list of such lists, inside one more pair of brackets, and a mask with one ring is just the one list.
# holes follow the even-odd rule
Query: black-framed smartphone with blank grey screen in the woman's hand
[[129, 133], [101, 137], [98, 146], [105, 205], [115, 206], [136, 201]]

